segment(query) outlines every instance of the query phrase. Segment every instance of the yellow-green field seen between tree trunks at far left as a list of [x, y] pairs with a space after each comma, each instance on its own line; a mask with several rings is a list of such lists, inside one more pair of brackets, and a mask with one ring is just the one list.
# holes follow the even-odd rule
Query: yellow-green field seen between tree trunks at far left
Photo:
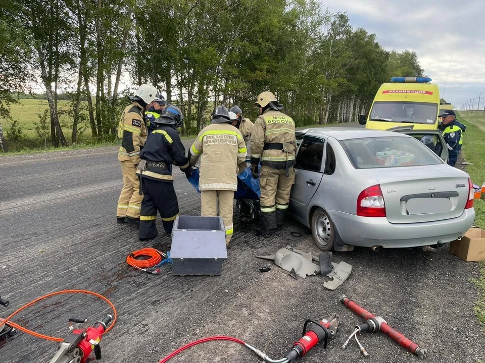
[[[66, 139], [70, 140], [72, 135], [73, 120], [63, 112], [69, 108], [69, 101], [59, 101], [58, 110], [60, 113], [59, 120], [62, 125], [62, 130]], [[27, 138], [37, 138], [35, 133], [35, 123], [39, 122], [38, 114], [42, 114], [44, 110], [49, 110], [49, 103], [47, 100], [24, 99], [21, 98], [18, 104], [13, 104], [10, 107], [10, 113], [13, 119], [19, 120], [19, 125], [22, 128], [23, 136]], [[10, 128], [12, 122], [0, 120], [4, 128], [4, 133]], [[48, 121], [50, 122], [50, 121]], [[90, 132], [83, 135], [83, 139], [89, 139]]]

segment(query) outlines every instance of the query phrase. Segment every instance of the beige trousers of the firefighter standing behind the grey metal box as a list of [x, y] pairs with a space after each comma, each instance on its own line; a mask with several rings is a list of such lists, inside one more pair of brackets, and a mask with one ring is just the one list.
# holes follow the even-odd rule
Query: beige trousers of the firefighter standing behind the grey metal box
[[201, 191], [202, 216], [216, 217], [217, 202], [219, 202], [219, 215], [224, 222], [226, 231], [226, 246], [229, 245], [234, 227], [232, 225], [232, 212], [234, 205], [234, 191]]

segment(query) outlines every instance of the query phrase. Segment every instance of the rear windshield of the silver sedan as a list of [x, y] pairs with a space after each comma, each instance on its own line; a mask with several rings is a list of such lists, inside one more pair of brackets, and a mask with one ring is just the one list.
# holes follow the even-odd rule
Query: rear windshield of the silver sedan
[[356, 169], [441, 164], [442, 160], [411, 137], [375, 137], [341, 141]]

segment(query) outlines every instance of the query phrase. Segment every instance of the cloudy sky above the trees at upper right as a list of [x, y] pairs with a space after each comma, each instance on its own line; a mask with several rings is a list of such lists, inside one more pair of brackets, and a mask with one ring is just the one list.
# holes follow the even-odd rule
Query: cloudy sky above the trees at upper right
[[476, 97], [476, 109], [479, 92], [480, 108], [485, 105], [485, 1], [320, 1], [332, 13], [347, 12], [354, 28], [375, 33], [385, 49], [414, 50], [442, 97], [456, 108]]

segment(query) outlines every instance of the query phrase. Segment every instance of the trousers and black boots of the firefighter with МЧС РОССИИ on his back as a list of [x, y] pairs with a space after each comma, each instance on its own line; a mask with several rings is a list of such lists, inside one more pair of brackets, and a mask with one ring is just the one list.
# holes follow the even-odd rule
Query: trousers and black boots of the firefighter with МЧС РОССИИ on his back
[[289, 205], [289, 195], [295, 184], [295, 170], [290, 167], [289, 176], [286, 169], [274, 169], [262, 165], [259, 176], [261, 191], [261, 228], [269, 231], [280, 227]]

